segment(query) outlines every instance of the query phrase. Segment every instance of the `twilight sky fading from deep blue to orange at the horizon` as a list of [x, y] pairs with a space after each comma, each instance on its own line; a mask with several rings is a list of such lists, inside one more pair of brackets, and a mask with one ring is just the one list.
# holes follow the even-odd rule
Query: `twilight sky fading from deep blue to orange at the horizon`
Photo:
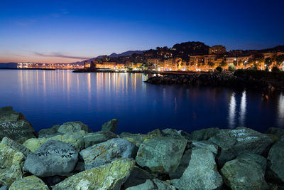
[[0, 63], [71, 63], [185, 41], [284, 45], [283, 0], [1, 0]]

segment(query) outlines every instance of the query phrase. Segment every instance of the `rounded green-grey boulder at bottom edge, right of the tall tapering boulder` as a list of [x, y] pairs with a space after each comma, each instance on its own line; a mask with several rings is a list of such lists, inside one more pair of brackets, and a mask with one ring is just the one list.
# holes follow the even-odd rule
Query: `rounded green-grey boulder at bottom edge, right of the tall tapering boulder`
[[224, 183], [231, 189], [267, 189], [263, 169], [253, 159], [234, 159], [221, 169]]

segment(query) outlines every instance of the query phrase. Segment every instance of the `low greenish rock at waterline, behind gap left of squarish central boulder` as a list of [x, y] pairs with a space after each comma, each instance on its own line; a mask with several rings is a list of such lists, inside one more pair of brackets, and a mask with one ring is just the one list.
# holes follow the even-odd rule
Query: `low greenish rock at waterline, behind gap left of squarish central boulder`
[[140, 145], [148, 139], [152, 139], [153, 137], [163, 137], [163, 133], [160, 132], [160, 130], [153, 130], [152, 132], [148, 132], [147, 134], [131, 134], [129, 132], [122, 132], [119, 134], [119, 137], [122, 139], [129, 140], [133, 144], [136, 145], [136, 147], [140, 147]]

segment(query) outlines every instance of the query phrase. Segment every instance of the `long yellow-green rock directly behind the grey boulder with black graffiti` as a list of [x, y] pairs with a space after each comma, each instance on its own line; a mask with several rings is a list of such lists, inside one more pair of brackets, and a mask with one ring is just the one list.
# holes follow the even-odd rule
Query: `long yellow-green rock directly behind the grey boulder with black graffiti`
[[69, 132], [62, 135], [56, 135], [54, 137], [48, 137], [48, 138], [32, 138], [28, 139], [26, 142], [23, 143], [23, 146], [27, 147], [31, 150], [31, 152], [35, 152], [41, 144], [44, 142], [47, 142], [48, 140], [58, 140], [61, 142], [67, 142], [70, 144], [73, 144], [77, 151], [84, 149], [84, 134], [86, 134], [85, 131], [78, 131], [78, 132]]

